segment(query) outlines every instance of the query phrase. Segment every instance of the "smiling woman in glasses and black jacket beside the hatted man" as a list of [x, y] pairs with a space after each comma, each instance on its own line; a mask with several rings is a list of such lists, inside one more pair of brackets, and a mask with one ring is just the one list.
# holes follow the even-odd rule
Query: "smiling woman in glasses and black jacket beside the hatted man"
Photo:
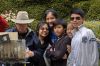
[[29, 59], [34, 66], [46, 66], [43, 54], [49, 45], [49, 26], [46, 22], [39, 22], [34, 36], [33, 58]]

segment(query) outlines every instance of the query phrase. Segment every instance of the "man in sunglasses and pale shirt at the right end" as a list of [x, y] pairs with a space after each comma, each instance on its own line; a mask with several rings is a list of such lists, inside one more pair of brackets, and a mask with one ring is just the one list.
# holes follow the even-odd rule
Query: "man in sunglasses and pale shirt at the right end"
[[70, 22], [74, 30], [67, 66], [98, 66], [96, 38], [92, 30], [83, 25], [84, 16], [82, 9], [76, 8], [71, 11]]

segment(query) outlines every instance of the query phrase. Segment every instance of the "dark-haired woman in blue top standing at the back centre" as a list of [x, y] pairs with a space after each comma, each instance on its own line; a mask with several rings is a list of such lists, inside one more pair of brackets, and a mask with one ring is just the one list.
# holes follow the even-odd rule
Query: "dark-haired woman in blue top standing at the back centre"
[[53, 32], [53, 24], [54, 24], [54, 21], [58, 18], [59, 18], [58, 13], [54, 9], [46, 10], [44, 15], [43, 15], [43, 21], [46, 21], [48, 23], [49, 27], [50, 27], [49, 28], [49, 30], [50, 30], [50, 39], [51, 39], [52, 44], [54, 42], [56, 42], [56, 40], [57, 40], [57, 37], [55, 36], [55, 34]]

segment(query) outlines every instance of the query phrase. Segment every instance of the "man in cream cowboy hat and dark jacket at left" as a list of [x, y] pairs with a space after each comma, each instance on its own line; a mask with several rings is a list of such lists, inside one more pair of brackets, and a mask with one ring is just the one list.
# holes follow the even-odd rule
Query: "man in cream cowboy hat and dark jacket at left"
[[[33, 22], [34, 19], [29, 19], [28, 13], [26, 11], [19, 11], [16, 19], [11, 19], [11, 20], [15, 22], [15, 27], [8, 29], [6, 32], [18, 32], [18, 39], [26, 40], [26, 47], [28, 48], [28, 51], [26, 51], [25, 55], [27, 56], [27, 58], [31, 58], [32, 56], [34, 56], [33, 52], [34, 32], [32, 31], [32, 29], [28, 27], [28, 24]], [[19, 66], [19, 64], [18, 65], [15, 64], [15, 66]], [[33, 66], [33, 65], [28, 65], [28, 66]]]

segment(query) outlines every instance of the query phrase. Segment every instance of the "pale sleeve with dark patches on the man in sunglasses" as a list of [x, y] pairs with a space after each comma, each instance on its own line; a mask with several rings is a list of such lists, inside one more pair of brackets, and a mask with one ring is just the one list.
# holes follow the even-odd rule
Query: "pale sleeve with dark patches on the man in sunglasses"
[[87, 30], [86, 34], [82, 36], [79, 50], [78, 61], [81, 66], [98, 66], [99, 54], [96, 37], [92, 30]]

